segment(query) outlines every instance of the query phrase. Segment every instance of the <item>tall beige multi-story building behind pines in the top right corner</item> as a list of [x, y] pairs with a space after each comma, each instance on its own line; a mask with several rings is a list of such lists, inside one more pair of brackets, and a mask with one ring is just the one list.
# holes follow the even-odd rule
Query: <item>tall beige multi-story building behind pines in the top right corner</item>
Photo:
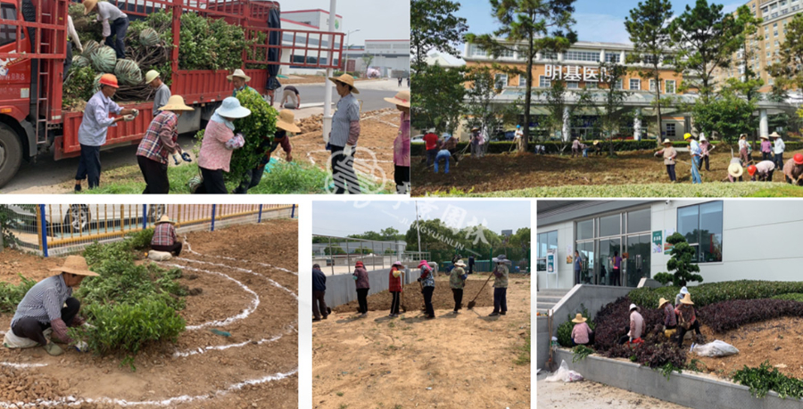
[[[756, 34], [748, 39], [747, 64], [764, 81], [760, 92], [768, 92], [774, 85], [767, 67], [780, 62], [779, 53], [786, 40], [786, 26], [803, 12], [803, 0], [750, 0], [746, 3], [753, 16], [762, 20]], [[727, 78], [744, 78], [744, 50], [733, 54], [733, 64], [728, 70], [716, 70], [717, 84]]]

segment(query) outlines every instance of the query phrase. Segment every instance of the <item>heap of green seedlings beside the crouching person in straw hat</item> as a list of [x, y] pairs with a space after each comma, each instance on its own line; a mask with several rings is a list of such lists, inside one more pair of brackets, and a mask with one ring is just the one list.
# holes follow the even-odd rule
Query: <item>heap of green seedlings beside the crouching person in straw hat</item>
[[88, 246], [83, 255], [100, 276], [84, 279], [74, 294], [91, 325], [70, 328], [70, 337], [87, 342], [96, 355], [125, 356], [121, 364], [135, 371], [134, 356], [142, 348], [175, 343], [186, 326], [178, 315], [186, 296], [186, 287], [176, 282], [181, 270], [135, 264], [152, 237], [153, 229], [147, 229], [124, 241]]

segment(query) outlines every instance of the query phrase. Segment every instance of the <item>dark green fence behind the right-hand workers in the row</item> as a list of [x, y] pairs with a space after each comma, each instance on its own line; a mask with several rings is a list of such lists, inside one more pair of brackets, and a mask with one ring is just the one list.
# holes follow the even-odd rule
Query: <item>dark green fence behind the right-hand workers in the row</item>
[[493, 270], [493, 258], [504, 255], [510, 260], [510, 273], [530, 273], [530, 249], [500, 247], [493, 249], [430, 250], [429, 252], [432, 254], [432, 258], [427, 258], [427, 260], [438, 263], [439, 271], [449, 270], [451, 267], [451, 259], [459, 255], [467, 266], [468, 258], [474, 258], [473, 271], [475, 273], [489, 273]]

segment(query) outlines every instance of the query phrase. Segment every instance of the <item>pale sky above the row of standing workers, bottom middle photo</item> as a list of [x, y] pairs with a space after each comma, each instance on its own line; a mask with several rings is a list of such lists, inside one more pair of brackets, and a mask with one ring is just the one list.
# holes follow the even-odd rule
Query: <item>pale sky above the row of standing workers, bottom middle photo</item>
[[[345, 236], [387, 227], [407, 233], [416, 219], [416, 200], [321, 201], [312, 203], [312, 233]], [[396, 208], [396, 209], [393, 209]], [[530, 226], [530, 202], [526, 200], [418, 200], [422, 219], [454, 215], [454, 225], [485, 225], [496, 233]], [[406, 219], [406, 220], [405, 220]], [[406, 222], [406, 223], [405, 223]]]

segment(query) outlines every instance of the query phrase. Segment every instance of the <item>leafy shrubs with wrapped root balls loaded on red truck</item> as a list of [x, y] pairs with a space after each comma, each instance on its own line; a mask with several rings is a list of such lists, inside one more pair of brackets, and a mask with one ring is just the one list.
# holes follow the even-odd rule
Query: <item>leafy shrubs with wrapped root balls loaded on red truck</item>
[[[95, 21], [95, 13], [84, 16], [83, 4], [70, 4], [70, 15], [79, 33], [84, 52], [73, 58], [66, 73], [62, 106], [79, 108], [97, 92], [95, 78], [103, 73], [118, 77], [120, 89], [114, 96], [117, 102], [137, 102], [153, 99], [154, 90], [144, 83], [145, 73], [157, 70], [161, 79], [170, 86], [173, 49], [172, 12], [159, 10], [145, 19], [132, 17], [126, 35], [126, 58], [117, 61], [95, 56], [104, 51], [102, 25]], [[181, 46], [178, 49], [178, 68], [181, 70], [235, 70], [243, 66], [243, 52], [256, 41], [267, 41], [267, 36], [254, 35], [245, 40], [244, 29], [228, 24], [223, 19], [200, 16], [193, 12], [181, 15]], [[251, 51], [249, 50], [249, 55]], [[264, 52], [262, 52], [264, 53]], [[95, 57], [95, 62], [93, 60]], [[122, 62], [121, 62], [122, 61]]]

